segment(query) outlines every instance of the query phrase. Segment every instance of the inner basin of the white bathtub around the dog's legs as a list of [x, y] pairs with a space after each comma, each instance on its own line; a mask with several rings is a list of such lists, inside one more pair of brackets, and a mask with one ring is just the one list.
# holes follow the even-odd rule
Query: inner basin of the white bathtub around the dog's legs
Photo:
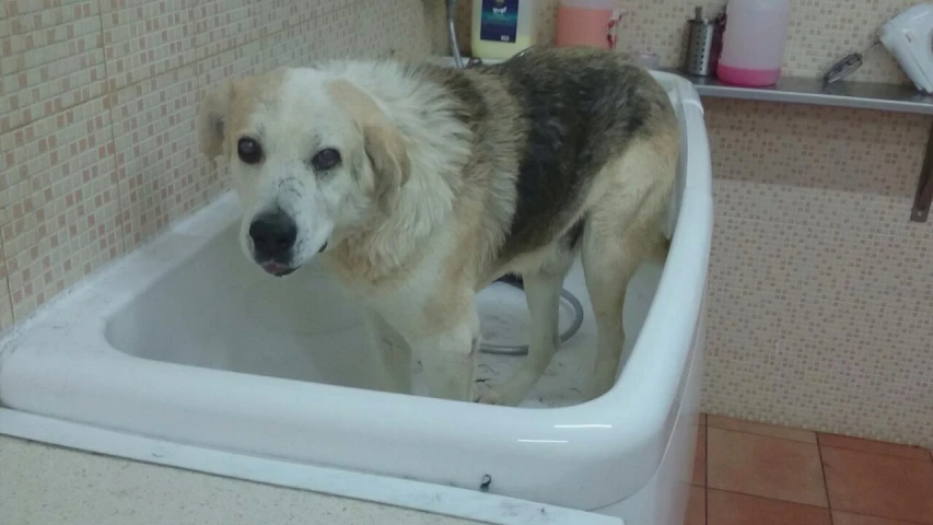
[[[315, 265], [289, 278], [264, 275], [242, 254], [236, 218], [184, 264], [133, 298], [106, 322], [117, 350], [138, 358], [191, 366], [310, 381], [357, 388], [373, 384], [364, 358], [368, 337], [353, 302]], [[625, 354], [632, 348], [661, 278], [663, 261], [645, 262], [629, 285]], [[583, 305], [580, 330], [565, 341], [523, 407], [583, 401], [596, 348], [596, 327], [578, 260], [564, 288]], [[477, 296], [485, 340], [523, 343], [528, 314], [524, 293], [495, 283]], [[562, 301], [560, 328], [573, 320]], [[522, 357], [481, 353], [477, 392], [508, 378]], [[427, 395], [418, 363], [413, 394]]]

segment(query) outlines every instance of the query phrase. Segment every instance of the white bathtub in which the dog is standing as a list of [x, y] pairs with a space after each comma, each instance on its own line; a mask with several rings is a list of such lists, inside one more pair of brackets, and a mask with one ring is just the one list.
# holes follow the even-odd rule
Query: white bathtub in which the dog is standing
[[[481, 490], [632, 525], [680, 525], [702, 376], [711, 172], [696, 91], [655, 74], [686, 145], [672, 248], [663, 266], [645, 264], [630, 284], [625, 362], [603, 397], [580, 397], [595, 326], [579, 261], [564, 287], [584, 305], [583, 325], [521, 407], [380, 393], [365, 388], [371, 371], [359, 358], [365, 339], [351, 304], [313, 265], [276, 280], [247, 261], [235, 242], [236, 197], [228, 194], [5, 336], [0, 432], [124, 456], [142, 439], [200, 447], [203, 457], [224, 453]], [[521, 292], [495, 284], [480, 293], [478, 308], [485, 337], [524, 336]], [[563, 305], [562, 326], [569, 314]], [[520, 359], [482, 355], [479, 387]], [[196, 457], [176, 454], [174, 464], [210, 470]], [[232, 475], [289, 485], [275, 472]]]

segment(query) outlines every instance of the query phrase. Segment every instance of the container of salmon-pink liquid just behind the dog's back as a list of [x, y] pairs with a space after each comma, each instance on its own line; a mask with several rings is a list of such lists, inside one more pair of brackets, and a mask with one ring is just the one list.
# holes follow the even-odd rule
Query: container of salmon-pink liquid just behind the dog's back
[[556, 45], [614, 48], [620, 18], [619, 0], [561, 0]]

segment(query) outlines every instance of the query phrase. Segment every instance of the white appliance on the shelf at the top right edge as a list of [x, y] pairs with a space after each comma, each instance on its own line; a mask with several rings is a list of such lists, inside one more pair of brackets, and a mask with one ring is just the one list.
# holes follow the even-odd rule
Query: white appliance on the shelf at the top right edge
[[933, 93], [933, 5], [914, 5], [882, 26], [882, 44], [917, 89]]

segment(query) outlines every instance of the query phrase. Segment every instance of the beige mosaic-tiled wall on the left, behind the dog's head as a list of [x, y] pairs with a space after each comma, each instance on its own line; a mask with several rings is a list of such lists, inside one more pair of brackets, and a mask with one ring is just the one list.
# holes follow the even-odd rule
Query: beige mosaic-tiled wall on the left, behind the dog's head
[[218, 195], [199, 94], [313, 57], [423, 55], [433, 0], [0, 2], [0, 328]]

